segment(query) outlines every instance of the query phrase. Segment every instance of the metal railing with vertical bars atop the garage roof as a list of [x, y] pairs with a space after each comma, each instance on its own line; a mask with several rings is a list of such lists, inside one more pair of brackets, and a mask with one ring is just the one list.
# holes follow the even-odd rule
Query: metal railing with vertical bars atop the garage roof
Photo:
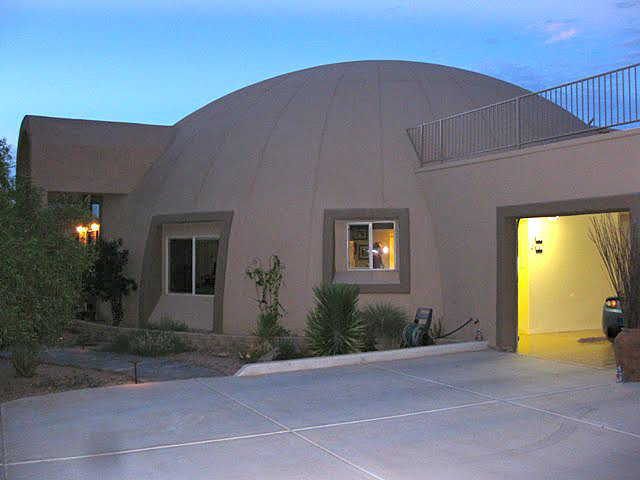
[[407, 130], [424, 166], [640, 122], [639, 64]]

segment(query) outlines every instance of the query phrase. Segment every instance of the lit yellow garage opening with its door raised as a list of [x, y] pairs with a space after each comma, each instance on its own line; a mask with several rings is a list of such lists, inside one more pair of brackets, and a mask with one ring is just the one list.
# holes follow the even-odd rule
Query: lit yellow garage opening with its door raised
[[519, 219], [519, 353], [615, 366], [603, 313], [614, 322], [621, 322], [622, 314], [616, 314], [615, 291], [590, 237], [599, 220], [628, 231], [628, 212]]

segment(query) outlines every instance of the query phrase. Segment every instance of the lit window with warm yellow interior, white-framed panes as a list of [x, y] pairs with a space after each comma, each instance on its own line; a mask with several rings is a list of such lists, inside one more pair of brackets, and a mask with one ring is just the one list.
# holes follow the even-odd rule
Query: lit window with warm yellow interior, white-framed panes
[[396, 224], [393, 221], [347, 224], [349, 270], [395, 270]]

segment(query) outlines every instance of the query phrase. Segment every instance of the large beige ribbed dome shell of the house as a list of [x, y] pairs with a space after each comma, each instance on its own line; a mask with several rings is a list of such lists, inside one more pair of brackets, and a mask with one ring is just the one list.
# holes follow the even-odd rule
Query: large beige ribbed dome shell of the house
[[226, 95], [174, 126], [173, 142], [128, 196], [132, 218], [122, 224], [144, 232], [121, 232], [134, 253], [132, 268], [142, 270], [136, 263], [154, 215], [233, 211], [225, 332], [254, 321], [244, 270], [274, 253], [287, 268], [283, 303], [301, 324], [312, 287], [322, 281], [325, 210], [404, 208], [411, 242], [421, 246], [411, 253], [420, 274], [410, 301], [440, 298], [433, 226], [406, 129], [522, 93], [456, 68], [362, 61], [300, 70]]

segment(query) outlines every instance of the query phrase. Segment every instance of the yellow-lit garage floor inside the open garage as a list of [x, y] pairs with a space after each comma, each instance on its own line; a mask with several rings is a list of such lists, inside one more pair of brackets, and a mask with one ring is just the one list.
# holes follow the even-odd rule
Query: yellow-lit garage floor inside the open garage
[[613, 344], [599, 329], [534, 335], [520, 333], [519, 336], [518, 353], [522, 355], [594, 367], [616, 366]]

